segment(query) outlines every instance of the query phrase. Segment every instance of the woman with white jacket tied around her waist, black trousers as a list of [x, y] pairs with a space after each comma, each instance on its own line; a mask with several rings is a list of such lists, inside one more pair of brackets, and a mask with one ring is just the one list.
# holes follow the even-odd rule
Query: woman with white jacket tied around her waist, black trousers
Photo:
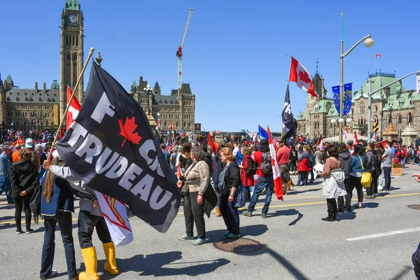
[[344, 186], [344, 172], [338, 158], [338, 148], [335, 144], [330, 144], [327, 148], [328, 158], [325, 160], [324, 171], [318, 176], [324, 177], [322, 196], [327, 199], [328, 216], [322, 218], [323, 221], [332, 222], [338, 219], [336, 197], [346, 195]]

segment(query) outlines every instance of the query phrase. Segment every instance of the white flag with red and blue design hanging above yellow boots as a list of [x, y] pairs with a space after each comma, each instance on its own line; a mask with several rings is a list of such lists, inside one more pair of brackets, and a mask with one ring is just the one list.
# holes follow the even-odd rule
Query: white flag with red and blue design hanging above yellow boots
[[125, 205], [118, 200], [94, 191], [99, 207], [104, 215], [111, 239], [116, 246], [127, 245], [133, 241], [133, 232], [128, 221]]

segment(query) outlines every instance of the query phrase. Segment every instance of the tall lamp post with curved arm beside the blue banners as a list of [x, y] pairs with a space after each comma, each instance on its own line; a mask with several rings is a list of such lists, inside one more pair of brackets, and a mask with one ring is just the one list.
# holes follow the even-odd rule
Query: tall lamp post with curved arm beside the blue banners
[[[372, 45], [374, 44], [373, 39], [371, 38], [372, 36], [367, 35], [364, 36], [363, 38], [361, 38], [357, 43], [355, 43], [349, 50], [347, 50], [346, 52], [344, 52], [344, 40], [343, 40], [343, 14], [341, 14], [341, 44], [340, 44], [340, 55], [339, 55], [339, 119], [338, 119], [338, 123], [339, 123], [339, 130], [342, 130], [342, 125], [344, 124], [344, 118], [343, 118], [343, 99], [344, 99], [344, 94], [343, 94], [343, 87], [344, 87], [344, 57], [346, 57], [347, 55], [349, 55], [349, 53], [358, 46], [358, 44], [362, 43], [363, 41], [365, 41], [365, 46], [367, 48], [372, 47]], [[343, 141], [343, 134], [339, 133], [338, 134], [339, 137], [339, 143], [342, 143]]]

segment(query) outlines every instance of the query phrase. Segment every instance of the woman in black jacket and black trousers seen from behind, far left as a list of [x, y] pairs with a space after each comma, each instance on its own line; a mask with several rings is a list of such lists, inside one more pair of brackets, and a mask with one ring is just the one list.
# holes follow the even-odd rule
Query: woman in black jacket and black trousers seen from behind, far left
[[21, 223], [22, 207], [25, 210], [26, 233], [31, 230], [31, 209], [29, 202], [34, 193], [38, 176], [36, 167], [32, 163], [32, 153], [29, 148], [22, 148], [19, 152], [20, 160], [10, 168], [10, 181], [12, 182], [11, 197], [15, 200], [16, 235], [23, 233]]

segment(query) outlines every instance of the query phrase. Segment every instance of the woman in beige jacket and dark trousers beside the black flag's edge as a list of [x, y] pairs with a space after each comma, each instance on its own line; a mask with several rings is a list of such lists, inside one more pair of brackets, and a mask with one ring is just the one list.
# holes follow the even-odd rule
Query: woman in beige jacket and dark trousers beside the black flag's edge
[[181, 181], [186, 185], [184, 200], [184, 217], [186, 220], [186, 233], [179, 240], [194, 239], [194, 223], [197, 230], [197, 241], [194, 245], [206, 242], [206, 225], [204, 222], [203, 195], [210, 182], [209, 165], [204, 161], [205, 153], [202, 148], [190, 152], [192, 164], [188, 167]]

